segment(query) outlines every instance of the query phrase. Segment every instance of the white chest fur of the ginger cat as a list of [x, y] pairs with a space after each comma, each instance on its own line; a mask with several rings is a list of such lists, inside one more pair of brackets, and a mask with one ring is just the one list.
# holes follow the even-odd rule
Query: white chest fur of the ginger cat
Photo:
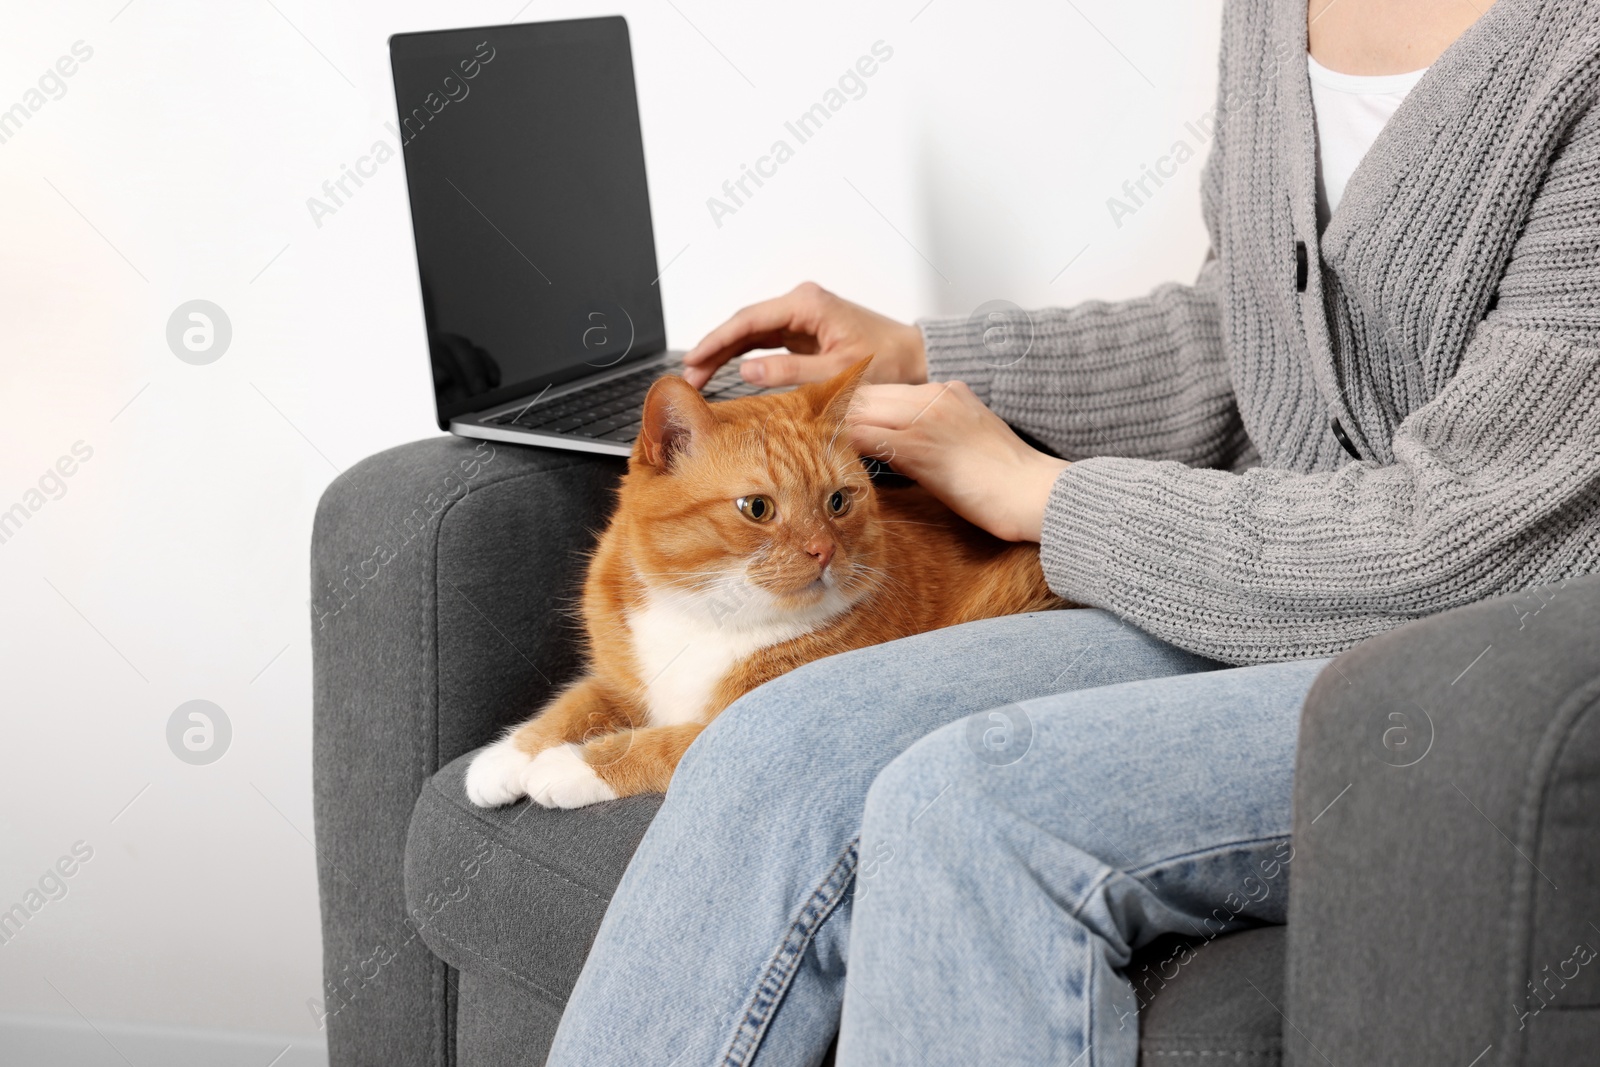
[[701, 721], [717, 689], [752, 653], [789, 641], [850, 608], [835, 587], [816, 605], [782, 611], [754, 585], [728, 592], [650, 592], [627, 616], [651, 726]]

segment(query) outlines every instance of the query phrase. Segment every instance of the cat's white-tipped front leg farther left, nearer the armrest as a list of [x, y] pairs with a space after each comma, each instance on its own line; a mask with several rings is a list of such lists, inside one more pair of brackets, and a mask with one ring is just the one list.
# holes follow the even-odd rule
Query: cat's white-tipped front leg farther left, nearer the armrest
[[632, 726], [598, 678], [579, 678], [539, 715], [488, 745], [467, 766], [467, 800], [499, 808], [528, 795], [526, 776], [546, 752]]

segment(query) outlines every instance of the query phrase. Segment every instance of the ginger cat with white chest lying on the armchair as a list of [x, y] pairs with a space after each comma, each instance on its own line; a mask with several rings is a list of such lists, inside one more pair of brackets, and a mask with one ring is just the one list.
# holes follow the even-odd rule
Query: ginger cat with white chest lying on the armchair
[[651, 387], [584, 584], [589, 673], [472, 760], [472, 803], [666, 792], [706, 725], [787, 670], [1064, 606], [1038, 545], [872, 485], [843, 434], [866, 368], [715, 405], [682, 378]]

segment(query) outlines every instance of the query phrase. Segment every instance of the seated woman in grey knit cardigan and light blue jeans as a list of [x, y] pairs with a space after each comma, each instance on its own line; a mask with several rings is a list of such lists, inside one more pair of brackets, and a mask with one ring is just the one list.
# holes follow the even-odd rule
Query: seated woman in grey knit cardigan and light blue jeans
[[816, 1064], [842, 1024], [851, 1065], [1133, 1064], [1136, 947], [1283, 921], [1323, 657], [1600, 569], [1597, 85], [1595, 0], [1230, 0], [1195, 285], [1037, 312], [1021, 360], [816, 286], [707, 336], [698, 379], [877, 354], [856, 443], [1098, 609], [728, 709], [549, 1062]]

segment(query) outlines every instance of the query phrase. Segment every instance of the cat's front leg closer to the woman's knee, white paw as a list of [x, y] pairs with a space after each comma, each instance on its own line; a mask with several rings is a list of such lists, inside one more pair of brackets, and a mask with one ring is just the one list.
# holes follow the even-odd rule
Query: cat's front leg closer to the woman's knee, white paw
[[702, 723], [645, 726], [541, 752], [525, 774], [528, 797], [546, 808], [664, 793]]

